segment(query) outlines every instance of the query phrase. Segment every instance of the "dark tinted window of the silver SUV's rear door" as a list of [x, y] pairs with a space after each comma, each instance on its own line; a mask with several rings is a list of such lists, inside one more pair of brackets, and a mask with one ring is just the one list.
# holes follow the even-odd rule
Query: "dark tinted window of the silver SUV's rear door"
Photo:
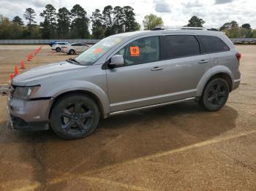
[[200, 54], [200, 46], [195, 36], [170, 35], [160, 37], [160, 58], [171, 59]]

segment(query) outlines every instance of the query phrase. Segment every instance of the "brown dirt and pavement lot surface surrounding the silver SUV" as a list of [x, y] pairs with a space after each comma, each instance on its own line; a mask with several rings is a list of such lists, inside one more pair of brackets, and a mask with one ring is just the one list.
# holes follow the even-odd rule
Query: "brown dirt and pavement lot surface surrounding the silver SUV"
[[[37, 46], [0, 46], [0, 83]], [[187, 102], [99, 122], [86, 139], [6, 128], [0, 96], [0, 190], [256, 190], [256, 46], [242, 53], [241, 85], [219, 112]], [[28, 68], [70, 55], [47, 46]]]

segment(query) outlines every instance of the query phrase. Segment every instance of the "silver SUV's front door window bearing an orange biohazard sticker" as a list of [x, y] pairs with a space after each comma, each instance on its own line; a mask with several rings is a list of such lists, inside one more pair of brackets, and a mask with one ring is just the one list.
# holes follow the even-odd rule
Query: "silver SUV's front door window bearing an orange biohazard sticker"
[[137, 39], [119, 50], [116, 55], [123, 55], [124, 64], [128, 66], [159, 61], [159, 36]]

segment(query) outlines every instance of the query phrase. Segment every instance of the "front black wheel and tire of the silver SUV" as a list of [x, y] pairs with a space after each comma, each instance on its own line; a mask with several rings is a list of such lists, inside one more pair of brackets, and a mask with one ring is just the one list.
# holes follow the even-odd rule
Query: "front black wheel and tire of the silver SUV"
[[81, 93], [65, 95], [53, 106], [50, 125], [62, 139], [81, 139], [97, 128], [99, 108], [88, 96]]

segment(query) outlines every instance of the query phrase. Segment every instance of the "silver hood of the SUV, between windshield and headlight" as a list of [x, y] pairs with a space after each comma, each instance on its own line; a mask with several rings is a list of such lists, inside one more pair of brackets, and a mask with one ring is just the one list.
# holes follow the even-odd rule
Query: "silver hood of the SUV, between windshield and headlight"
[[81, 69], [87, 69], [88, 66], [77, 65], [74, 63], [69, 63], [67, 61], [60, 63], [52, 63], [45, 66], [39, 66], [34, 69], [30, 69], [19, 74], [12, 80], [13, 85], [24, 86], [29, 82], [38, 82], [40, 79], [45, 79], [53, 77], [65, 72], [78, 71]]

